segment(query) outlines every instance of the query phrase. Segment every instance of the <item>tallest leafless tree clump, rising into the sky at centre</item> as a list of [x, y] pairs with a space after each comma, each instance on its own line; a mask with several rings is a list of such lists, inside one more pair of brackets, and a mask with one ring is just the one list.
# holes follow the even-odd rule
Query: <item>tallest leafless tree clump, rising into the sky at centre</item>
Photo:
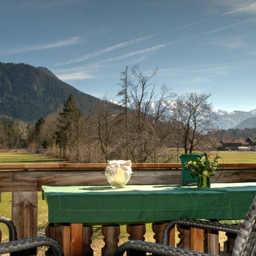
[[119, 95], [127, 103], [127, 156], [137, 163], [157, 161], [158, 149], [163, 147], [163, 140], [170, 133], [162, 128], [166, 128], [168, 123], [175, 94], [163, 85], [160, 96], [156, 95], [152, 78], [157, 71], [158, 68], [155, 68], [148, 75], [140, 70], [139, 65], [135, 65], [131, 68], [131, 75], [127, 74], [127, 67], [121, 73], [124, 83]]

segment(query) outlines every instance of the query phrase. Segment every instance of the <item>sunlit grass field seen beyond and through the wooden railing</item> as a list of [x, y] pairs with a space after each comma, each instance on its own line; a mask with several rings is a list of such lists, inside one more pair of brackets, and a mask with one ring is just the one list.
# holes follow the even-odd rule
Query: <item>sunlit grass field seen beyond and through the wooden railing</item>
[[[203, 152], [202, 152], [203, 153]], [[219, 163], [255, 163], [256, 152], [208, 152], [212, 156], [216, 154], [221, 157]], [[49, 157], [41, 154], [28, 154], [28, 153], [3, 153], [0, 152], [0, 164], [6, 163], [60, 163], [63, 159]], [[1, 172], [0, 172], [1, 173]], [[0, 174], [1, 179], [1, 174]], [[0, 216], [11, 218], [11, 193], [2, 193], [0, 203]], [[48, 222], [48, 209], [47, 204], [42, 200], [42, 193], [38, 193], [38, 230], [44, 229]], [[5, 225], [0, 223], [2, 230], [2, 241], [8, 239], [8, 231]], [[153, 232], [151, 231], [151, 224], [146, 225], [146, 241], [153, 241]], [[120, 243], [128, 239], [126, 233], [126, 226], [121, 226]], [[179, 241], [179, 240], [178, 240]], [[100, 255], [100, 248], [104, 246], [103, 235], [101, 234], [100, 227], [94, 227], [94, 236], [92, 248], [95, 255]], [[221, 249], [223, 249], [221, 244]]]

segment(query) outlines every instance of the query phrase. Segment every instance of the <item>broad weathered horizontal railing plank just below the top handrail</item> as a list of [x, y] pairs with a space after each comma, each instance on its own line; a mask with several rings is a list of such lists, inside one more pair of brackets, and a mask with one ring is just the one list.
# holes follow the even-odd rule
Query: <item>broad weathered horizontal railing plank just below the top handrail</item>
[[[77, 165], [77, 164], [74, 164]], [[238, 164], [241, 165], [241, 164]], [[1, 166], [1, 164], [0, 164]], [[232, 164], [234, 166], [234, 164]], [[248, 166], [248, 164], [246, 164]], [[181, 170], [135, 168], [129, 184], [181, 184]], [[256, 168], [223, 168], [211, 176], [211, 182], [255, 182]], [[41, 191], [42, 185], [109, 185], [104, 169], [1, 171], [0, 191]]]

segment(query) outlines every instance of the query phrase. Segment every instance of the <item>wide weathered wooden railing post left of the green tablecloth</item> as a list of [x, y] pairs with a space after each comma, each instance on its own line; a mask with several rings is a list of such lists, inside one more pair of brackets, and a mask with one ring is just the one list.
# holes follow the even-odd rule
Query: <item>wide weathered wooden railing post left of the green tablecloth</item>
[[[12, 221], [17, 228], [18, 239], [37, 236], [37, 191], [12, 193]], [[36, 255], [36, 249], [26, 250], [21, 255]]]

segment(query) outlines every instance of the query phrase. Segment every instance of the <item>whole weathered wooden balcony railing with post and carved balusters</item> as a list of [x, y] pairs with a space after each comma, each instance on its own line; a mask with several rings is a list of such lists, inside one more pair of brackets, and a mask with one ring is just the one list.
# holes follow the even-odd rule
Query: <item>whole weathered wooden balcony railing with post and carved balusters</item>
[[[104, 175], [107, 164], [0, 164], [0, 198], [1, 192], [12, 192], [12, 220], [17, 227], [19, 238], [37, 235], [38, 191], [42, 185], [108, 185]], [[129, 184], [181, 184], [181, 164], [132, 164]], [[256, 182], [256, 163], [226, 163], [220, 171], [211, 177], [211, 182]], [[0, 204], [1, 207], [1, 204]], [[154, 239], [161, 240], [164, 223], [153, 223]], [[145, 225], [127, 225], [129, 239], [144, 240]], [[182, 235], [179, 242], [181, 248], [188, 248], [186, 242], [190, 231], [179, 227]], [[49, 225], [47, 234], [62, 244], [61, 229]], [[92, 227], [84, 227], [84, 255], [93, 255]], [[118, 243], [120, 227], [103, 226], [105, 237], [102, 255], [112, 255]], [[192, 232], [192, 231], [191, 231]], [[195, 235], [194, 235], [195, 236]], [[216, 244], [216, 236], [212, 235]], [[209, 240], [209, 239], [208, 239]], [[231, 242], [230, 242], [231, 241]], [[232, 239], [228, 241], [227, 252], [232, 247]], [[177, 243], [177, 241], [176, 241]], [[172, 236], [171, 244], [176, 244]], [[213, 244], [214, 244], [213, 243]], [[193, 244], [193, 243], [192, 243]], [[230, 246], [228, 246], [231, 244]], [[114, 245], [114, 248], [113, 248]], [[63, 244], [63, 246], [66, 246]], [[218, 247], [218, 246], [217, 246]], [[208, 252], [216, 254], [216, 245], [208, 243]], [[193, 249], [193, 248], [192, 248]], [[24, 255], [34, 255], [27, 253]], [[138, 255], [138, 254], [136, 254]]]

